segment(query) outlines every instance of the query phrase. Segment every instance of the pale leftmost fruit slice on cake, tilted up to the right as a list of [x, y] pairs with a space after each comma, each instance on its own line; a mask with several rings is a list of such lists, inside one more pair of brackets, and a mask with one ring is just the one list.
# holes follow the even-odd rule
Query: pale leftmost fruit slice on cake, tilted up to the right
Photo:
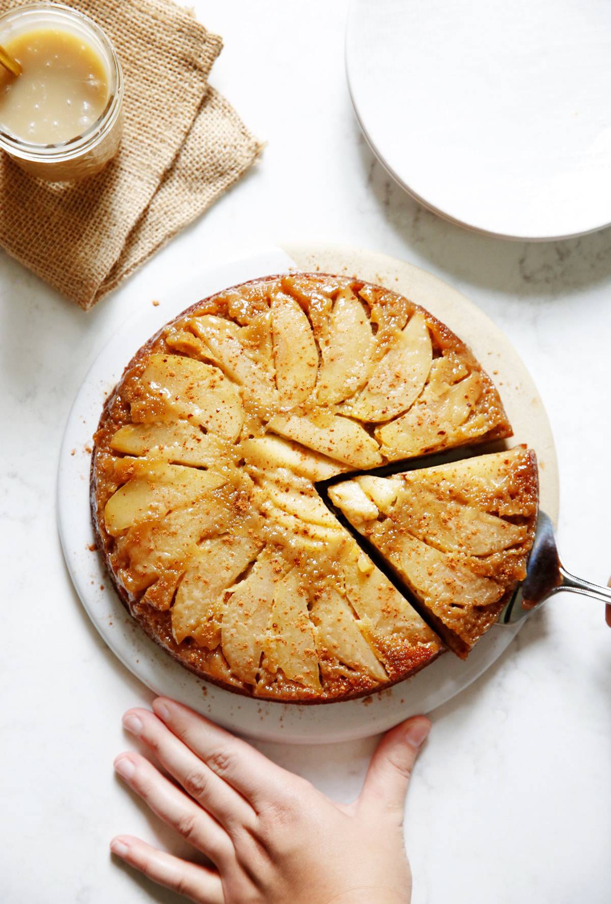
[[152, 464], [149, 476], [134, 477], [110, 497], [104, 510], [106, 531], [116, 537], [134, 524], [162, 518], [171, 508], [186, 505], [225, 483], [227, 477], [215, 471]]

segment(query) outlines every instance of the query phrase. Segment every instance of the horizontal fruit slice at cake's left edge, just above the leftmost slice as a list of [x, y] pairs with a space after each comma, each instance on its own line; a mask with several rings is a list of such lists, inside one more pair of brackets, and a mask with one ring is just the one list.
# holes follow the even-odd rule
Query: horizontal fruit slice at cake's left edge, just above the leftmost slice
[[116, 452], [160, 457], [175, 465], [212, 467], [231, 455], [233, 447], [216, 433], [202, 433], [186, 420], [171, 424], [125, 424], [110, 440]]

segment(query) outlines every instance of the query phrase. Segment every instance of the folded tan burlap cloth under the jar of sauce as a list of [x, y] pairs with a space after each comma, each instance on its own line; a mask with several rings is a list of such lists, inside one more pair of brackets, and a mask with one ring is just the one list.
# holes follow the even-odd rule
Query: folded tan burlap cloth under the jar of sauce
[[[19, 5], [0, 0], [0, 13]], [[222, 42], [170, 0], [71, 0], [114, 43], [125, 79], [116, 158], [76, 184], [33, 179], [0, 152], [0, 245], [94, 305], [253, 163], [262, 146], [208, 86]]]

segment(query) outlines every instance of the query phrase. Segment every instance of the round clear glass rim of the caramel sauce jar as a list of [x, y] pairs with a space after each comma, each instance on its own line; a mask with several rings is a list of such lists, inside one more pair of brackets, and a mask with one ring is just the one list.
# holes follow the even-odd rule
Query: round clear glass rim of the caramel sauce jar
[[61, 3], [29, 3], [23, 6], [17, 6], [4, 14], [0, 14], [0, 29], [3, 25], [11, 23], [13, 20], [18, 21], [23, 14], [28, 13], [50, 13], [57, 10], [63, 14], [64, 18], [72, 18], [79, 24], [83, 24], [92, 31], [97, 40], [102, 44], [106, 51], [108, 61], [111, 66], [111, 78], [113, 81], [112, 88], [109, 92], [106, 107], [100, 113], [99, 117], [84, 132], [67, 141], [58, 142], [57, 144], [41, 145], [34, 142], [26, 141], [23, 138], [15, 136], [12, 132], [5, 131], [0, 123], [0, 148], [3, 148], [12, 156], [20, 157], [23, 160], [31, 161], [68, 161], [73, 157], [79, 156], [97, 143], [106, 132], [112, 127], [121, 112], [123, 101], [123, 71], [121, 62], [116, 54], [115, 47], [110, 41], [106, 32], [91, 19], [87, 14], [73, 9], [71, 6]]

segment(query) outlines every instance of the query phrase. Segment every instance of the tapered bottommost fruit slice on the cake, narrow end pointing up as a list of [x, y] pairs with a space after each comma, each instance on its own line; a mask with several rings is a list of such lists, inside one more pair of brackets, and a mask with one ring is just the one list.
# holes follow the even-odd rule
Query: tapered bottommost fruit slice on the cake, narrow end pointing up
[[319, 690], [319, 657], [308, 611], [307, 590], [297, 569], [276, 585], [264, 643], [265, 667]]

